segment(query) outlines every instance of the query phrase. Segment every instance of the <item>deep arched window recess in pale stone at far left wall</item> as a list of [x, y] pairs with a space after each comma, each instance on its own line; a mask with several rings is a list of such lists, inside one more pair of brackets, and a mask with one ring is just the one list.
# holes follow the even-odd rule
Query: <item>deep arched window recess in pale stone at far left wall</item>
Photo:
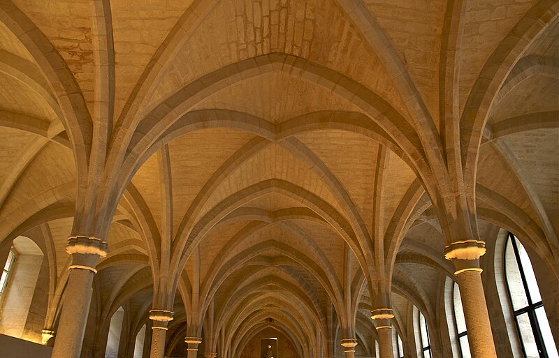
[[[9, 260], [11, 258], [11, 261]], [[27, 332], [31, 322], [41, 317], [34, 317], [31, 303], [34, 301], [35, 289], [41, 266], [43, 252], [28, 237], [16, 237], [8, 255], [2, 274], [2, 293], [0, 296], [0, 334], [34, 340], [41, 343], [41, 332], [36, 337]], [[43, 317], [44, 320], [44, 317]], [[41, 326], [44, 322], [41, 322]]]

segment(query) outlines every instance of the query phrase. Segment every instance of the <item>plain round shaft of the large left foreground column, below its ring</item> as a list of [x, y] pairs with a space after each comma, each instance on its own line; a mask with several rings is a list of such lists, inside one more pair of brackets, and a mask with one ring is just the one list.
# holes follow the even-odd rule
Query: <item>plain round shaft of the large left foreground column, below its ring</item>
[[52, 358], [80, 357], [87, 313], [92, 301], [93, 276], [94, 272], [88, 269], [70, 270]]

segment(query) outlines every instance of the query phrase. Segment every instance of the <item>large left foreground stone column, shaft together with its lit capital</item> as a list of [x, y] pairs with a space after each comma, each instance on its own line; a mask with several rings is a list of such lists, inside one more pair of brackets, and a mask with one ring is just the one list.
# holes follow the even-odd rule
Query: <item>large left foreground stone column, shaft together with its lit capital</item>
[[52, 358], [80, 357], [92, 301], [93, 276], [100, 257], [107, 255], [107, 242], [96, 237], [69, 237], [66, 252], [72, 255], [64, 304], [60, 314]]

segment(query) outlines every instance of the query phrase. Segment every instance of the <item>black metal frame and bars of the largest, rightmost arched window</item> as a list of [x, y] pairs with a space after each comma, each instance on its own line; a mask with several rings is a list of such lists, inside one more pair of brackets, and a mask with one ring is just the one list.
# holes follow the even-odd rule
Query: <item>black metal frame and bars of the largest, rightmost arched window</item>
[[[512, 295], [511, 295], [511, 289], [510, 289], [510, 285], [509, 285], [509, 275], [508, 275], [508, 271], [507, 271], [507, 250], [509, 241], [511, 242], [511, 246], [514, 252], [514, 258], [516, 260], [516, 266], [518, 266], [518, 272], [520, 273], [521, 276], [521, 281], [522, 281], [522, 285], [524, 288], [524, 292], [526, 295], [526, 301], [528, 302], [528, 306], [524, 306], [522, 308], [518, 308], [518, 309], [514, 309], [514, 303], [512, 301]], [[512, 232], [508, 232], [507, 233], [507, 239], [504, 241], [504, 251], [503, 251], [503, 267], [504, 267], [504, 283], [505, 286], [507, 286], [507, 294], [509, 296], [509, 302], [511, 304], [511, 308], [512, 308], [512, 315], [514, 317], [514, 325], [516, 326], [516, 334], [520, 340], [521, 343], [521, 348], [522, 348], [522, 354], [524, 357], [528, 357], [528, 355], [526, 355], [526, 349], [524, 346], [524, 340], [522, 338], [521, 335], [521, 328], [520, 325], [518, 324], [518, 317], [527, 313], [528, 315], [528, 320], [530, 320], [530, 327], [532, 328], [532, 334], [534, 334], [534, 339], [535, 339], [535, 343], [536, 343], [536, 347], [537, 350], [539, 352], [539, 357], [540, 358], [549, 358], [549, 355], [547, 353], [546, 347], [544, 345], [544, 338], [542, 336], [542, 330], [539, 327], [539, 322], [537, 320], [537, 315], [536, 315], [536, 309], [543, 307], [544, 304], [543, 302], [540, 300], [539, 302], [534, 303], [532, 301], [532, 295], [530, 294], [530, 288], [528, 286], [528, 281], [526, 280], [526, 276], [524, 273], [524, 266], [520, 257], [520, 251], [518, 250], [518, 245], [517, 245], [517, 241], [518, 238], [516, 237], [516, 235], [514, 235]], [[530, 262], [531, 264], [531, 262]]]

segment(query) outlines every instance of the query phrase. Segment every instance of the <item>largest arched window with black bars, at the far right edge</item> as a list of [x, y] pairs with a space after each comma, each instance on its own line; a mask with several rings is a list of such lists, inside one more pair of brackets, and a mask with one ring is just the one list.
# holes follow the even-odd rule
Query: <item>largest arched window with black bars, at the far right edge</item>
[[559, 357], [532, 263], [521, 242], [510, 232], [504, 248], [504, 272], [524, 357]]

